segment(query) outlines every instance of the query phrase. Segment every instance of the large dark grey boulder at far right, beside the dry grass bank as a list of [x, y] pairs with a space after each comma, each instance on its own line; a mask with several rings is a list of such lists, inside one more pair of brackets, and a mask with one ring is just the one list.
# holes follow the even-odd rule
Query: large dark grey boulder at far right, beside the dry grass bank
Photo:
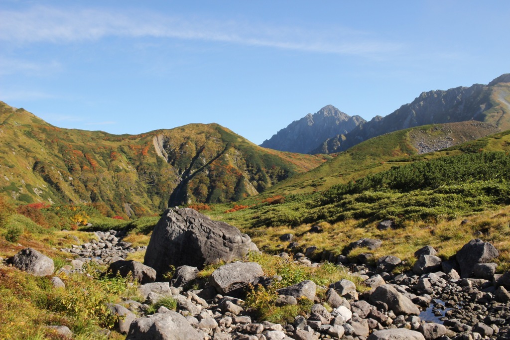
[[455, 259], [461, 268], [461, 277], [468, 278], [473, 274], [474, 265], [489, 263], [498, 256], [499, 253], [492, 244], [476, 239], [465, 244], [457, 252]]

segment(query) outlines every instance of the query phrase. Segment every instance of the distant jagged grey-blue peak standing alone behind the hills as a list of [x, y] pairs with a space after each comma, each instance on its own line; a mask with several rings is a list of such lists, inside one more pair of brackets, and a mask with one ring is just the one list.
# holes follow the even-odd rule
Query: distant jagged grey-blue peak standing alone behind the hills
[[332, 105], [308, 114], [279, 130], [260, 146], [280, 151], [311, 153], [328, 138], [345, 135], [366, 122], [360, 116], [349, 116]]

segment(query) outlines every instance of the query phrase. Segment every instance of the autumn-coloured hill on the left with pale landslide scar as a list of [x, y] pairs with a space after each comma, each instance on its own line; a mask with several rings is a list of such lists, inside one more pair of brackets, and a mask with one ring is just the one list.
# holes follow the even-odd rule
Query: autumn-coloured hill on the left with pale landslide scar
[[142, 135], [59, 128], [0, 101], [0, 192], [122, 216], [257, 194], [328, 156], [263, 149], [218, 124]]

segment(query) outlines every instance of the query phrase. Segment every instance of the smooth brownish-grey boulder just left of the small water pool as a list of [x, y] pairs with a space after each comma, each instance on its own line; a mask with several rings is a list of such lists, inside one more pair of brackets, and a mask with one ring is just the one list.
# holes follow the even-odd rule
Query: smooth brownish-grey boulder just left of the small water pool
[[378, 301], [388, 305], [396, 315], [419, 315], [420, 309], [406, 296], [397, 292], [390, 284], [378, 286], [371, 294], [369, 301], [372, 305]]

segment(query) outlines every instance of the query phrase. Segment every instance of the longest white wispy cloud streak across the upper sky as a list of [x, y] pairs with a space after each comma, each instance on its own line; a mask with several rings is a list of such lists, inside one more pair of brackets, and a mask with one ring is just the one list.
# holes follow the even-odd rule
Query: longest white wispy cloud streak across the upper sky
[[0, 41], [66, 43], [108, 36], [206, 40], [280, 49], [366, 55], [402, 49], [395, 42], [370, 38], [366, 32], [345, 28], [324, 31], [276, 27], [259, 23], [185, 19], [155, 12], [122, 13], [99, 9], [56, 9], [35, 6], [0, 12]]

